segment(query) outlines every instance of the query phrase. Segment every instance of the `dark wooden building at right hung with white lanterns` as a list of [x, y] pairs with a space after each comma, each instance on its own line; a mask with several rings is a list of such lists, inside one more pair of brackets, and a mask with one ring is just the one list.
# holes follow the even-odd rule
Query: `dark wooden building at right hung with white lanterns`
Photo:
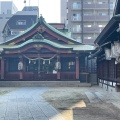
[[[117, 4], [118, 3], [118, 4]], [[114, 16], [95, 41], [96, 50], [90, 58], [97, 59], [98, 83], [115, 87], [120, 84], [120, 1], [116, 2]]]

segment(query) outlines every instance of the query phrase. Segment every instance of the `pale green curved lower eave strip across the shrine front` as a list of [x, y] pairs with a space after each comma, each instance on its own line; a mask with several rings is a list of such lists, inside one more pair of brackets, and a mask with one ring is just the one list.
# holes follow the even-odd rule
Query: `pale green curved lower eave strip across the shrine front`
[[56, 43], [56, 42], [52, 42], [50, 40], [47, 40], [47, 39], [30, 39], [28, 41], [25, 41], [24, 43], [22, 44], [19, 44], [19, 45], [0, 45], [0, 51], [3, 51], [3, 50], [15, 50], [15, 49], [19, 49], [19, 48], [22, 48], [28, 44], [40, 44], [40, 45], [49, 45], [49, 46], [52, 46], [54, 48], [57, 48], [57, 49], [70, 49], [70, 50], [73, 50], [73, 51], [92, 51], [95, 49], [94, 46], [92, 45], [82, 45], [82, 44], [79, 44], [79, 45], [66, 45], [66, 44], [59, 44], [59, 43]]

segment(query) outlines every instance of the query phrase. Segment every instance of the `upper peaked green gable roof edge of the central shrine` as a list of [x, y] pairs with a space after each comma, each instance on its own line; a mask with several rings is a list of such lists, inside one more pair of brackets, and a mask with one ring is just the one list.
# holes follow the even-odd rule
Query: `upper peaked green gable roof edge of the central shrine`
[[66, 36], [64, 33], [60, 32], [59, 30], [55, 29], [54, 27], [52, 27], [51, 25], [46, 23], [46, 21], [44, 20], [44, 18], [42, 16], [39, 18], [37, 23], [32, 25], [30, 28], [28, 28], [23, 33], [19, 34], [18, 36], [4, 42], [3, 44], [7, 44], [7, 45], [8, 44], [16, 44], [18, 40], [23, 41], [23, 39], [25, 40], [30, 34], [34, 34], [34, 31], [37, 31], [37, 30], [39, 31], [39, 28], [41, 25], [43, 25], [45, 27], [45, 29], [47, 29], [51, 33], [59, 36], [61, 39], [66, 40], [67, 43], [69, 43], [69, 44], [80, 44], [73, 38]]

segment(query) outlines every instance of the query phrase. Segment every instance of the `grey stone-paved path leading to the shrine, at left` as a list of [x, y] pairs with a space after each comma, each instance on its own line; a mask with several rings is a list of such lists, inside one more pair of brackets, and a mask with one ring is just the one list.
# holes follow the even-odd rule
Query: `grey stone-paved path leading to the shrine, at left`
[[0, 96], [0, 120], [49, 120], [58, 112], [40, 96], [46, 90], [23, 87]]

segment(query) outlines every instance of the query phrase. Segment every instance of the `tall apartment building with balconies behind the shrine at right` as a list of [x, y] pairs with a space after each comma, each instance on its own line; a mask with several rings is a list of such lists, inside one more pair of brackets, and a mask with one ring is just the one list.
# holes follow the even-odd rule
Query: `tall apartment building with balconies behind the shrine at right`
[[113, 16], [116, 0], [61, 0], [61, 22], [72, 37], [85, 44], [94, 40]]

